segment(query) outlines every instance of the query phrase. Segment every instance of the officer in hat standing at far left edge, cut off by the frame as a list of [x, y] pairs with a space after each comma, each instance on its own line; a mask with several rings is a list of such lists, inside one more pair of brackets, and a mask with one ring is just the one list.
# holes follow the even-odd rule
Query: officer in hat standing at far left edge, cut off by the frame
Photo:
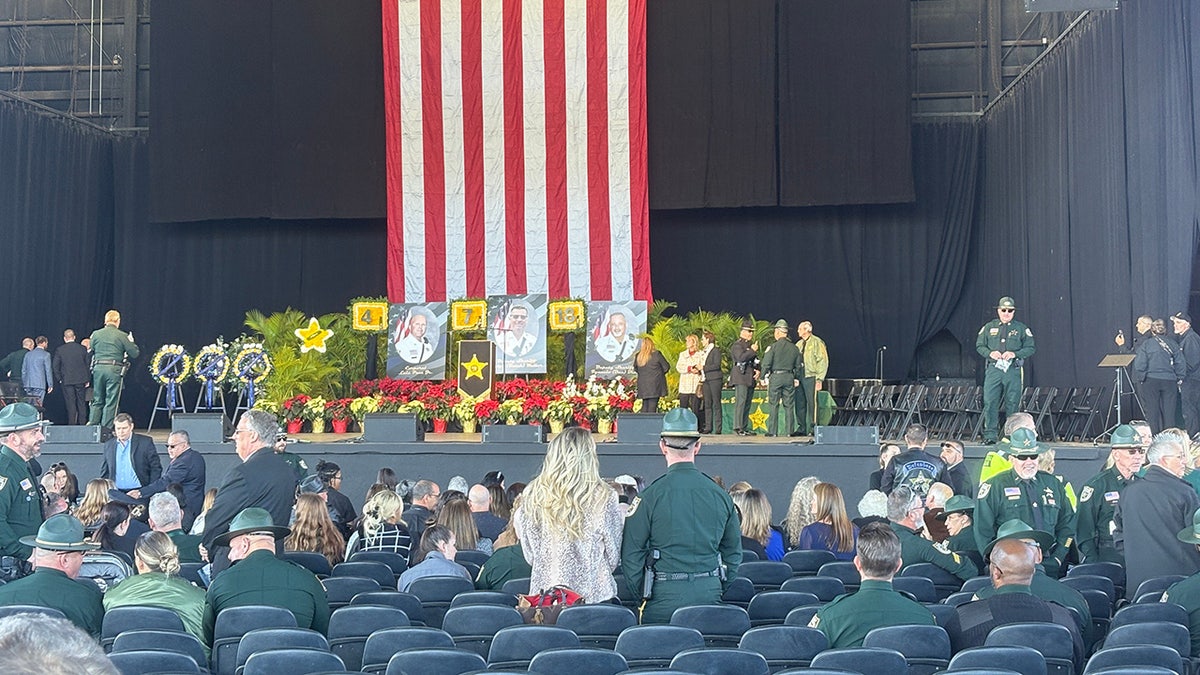
[[37, 408], [29, 404], [10, 404], [0, 410], [0, 555], [29, 558], [31, 548], [22, 537], [37, 533], [42, 525], [42, 495], [29, 460], [42, 454], [44, 428]]

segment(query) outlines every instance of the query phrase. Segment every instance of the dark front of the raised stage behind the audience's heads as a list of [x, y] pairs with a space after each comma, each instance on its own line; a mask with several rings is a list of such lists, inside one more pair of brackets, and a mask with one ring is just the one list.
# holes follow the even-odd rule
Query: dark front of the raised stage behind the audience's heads
[[[154, 430], [149, 435], [158, 446], [166, 466], [168, 430]], [[599, 434], [595, 440], [600, 471], [605, 477], [630, 473], [642, 476], [649, 483], [666, 470], [656, 442], [620, 443], [616, 435]], [[930, 444], [934, 446], [934, 442]], [[86, 480], [100, 472], [101, 447], [100, 443], [47, 442], [38, 461], [43, 468], [56, 461], [67, 462], [79, 477], [82, 491]], [[224, 472], [238, 461], [232, 442], [196, 443], [193, 447], [205, 458], [210, 488], [220, 485]], [[1103, 468], [1109, 453], [1106, 446], [1091, 443], [1051, 443], [1051, 447], [1057, 456], [1056, 473], [1072, 482], [1076, 492], [1084, 482]], [[977, 467], [988, 449], [984, 446], [966, 446], [966, 461]], [[541, 467], [546, 446], [484, 444], [479, 434], [428, 434], [424, 442], [414, 443], [362, 442], [358, 434], [300, 434], [288, 450], [304, 458], [310, 470], [316, 468], [322, 459], [336, 462], [342, 468], [342, 491], [358, 508], [376, 473], [384, 466], [391, 467], [401, 478], [431, 478], [443, 489], [452, 476], [476, 483], [488, 471], [503, 471], [510, 484], [524, 483]], [[774, 519], [781, 520], [787, 512], [792, 488], [805, 476], [817, 476], [838, 484], [846, 496], [851, 515], [857, 515], [854, 504], [866, 491], [870, 473], [878, 467], [877, 458], [878, 447], [875, 444], [811, 443], [809, 437], [709, 435], [702, 437], [696, 465], [710, 476], [720, 476], [726, 485], [748, 480], [764, 490], [772, 501]]]

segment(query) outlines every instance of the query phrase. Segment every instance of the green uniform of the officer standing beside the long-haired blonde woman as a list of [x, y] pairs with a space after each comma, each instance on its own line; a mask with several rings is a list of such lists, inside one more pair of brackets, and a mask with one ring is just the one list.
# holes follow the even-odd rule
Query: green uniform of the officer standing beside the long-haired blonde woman
[[[796, 348], [796, 345], [784, 342]], [[661, 605], [668, 598], [679, 602], [677, 607], [720, 602], [721, 589], [727, 587], [738, 574], [742, 526], [733, 501], [694, 462], [680, 461], [668, 466], [665, 474], [629, 504], [622, 536], [620, 568], [635, 597], [642, 597], [642, 578], [652, 550], [660, 552], [655, 563], [655, 571], [660, 573], [697, 574], [725, 565], [725, 581], [715, 586], [708, 578], [656, 581], [652, 604]], [[685, 590], [701, 587], [704, 591], [697, 593]], [[710, 590], [716, 597], [707, 597]], [[689, 599], [695, 602], [686, 602]], [[667, 610], [673, 608], [655, 609], [659, 615], [666, 614], [670, 619]]]

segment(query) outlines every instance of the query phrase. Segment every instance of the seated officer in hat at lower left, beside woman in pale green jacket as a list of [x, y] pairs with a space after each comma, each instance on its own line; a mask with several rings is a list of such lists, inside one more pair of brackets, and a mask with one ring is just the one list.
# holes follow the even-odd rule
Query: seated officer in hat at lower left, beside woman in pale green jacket
[[79, 519], [60, 513], [52, 515], [36, 534], [20, 543], [34, 551], [36, 569], [29, 577], [0, 586], [0, 607], [30, 604], [48, 607], [66, 615], [72, 623], [94, 637], [100, 635], [104, 620], [103, 596], [95, 584], [74, 579], [83, 567], [83, 552], [100, 548], [84, 540]]

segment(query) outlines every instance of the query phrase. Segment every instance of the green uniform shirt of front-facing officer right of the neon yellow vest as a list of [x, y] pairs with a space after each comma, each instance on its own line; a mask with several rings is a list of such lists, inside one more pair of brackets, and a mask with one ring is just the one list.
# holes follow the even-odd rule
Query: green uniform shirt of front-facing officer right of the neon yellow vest
[[1045, 471], [1037, 472], [1028, 480], [1021, 480], [1016, 471], [1010, 468], [979, 485], [974, 530], [976, 544], [980, 551], [996, 538], [996, 530], [1014, 518], [1054, 534], [1054, 548], [1042, 554], [1046, 573], [1058, 577], [1067, 549], [1075, 538], [1075, 513], [1070, 508], [1063, 483]]

